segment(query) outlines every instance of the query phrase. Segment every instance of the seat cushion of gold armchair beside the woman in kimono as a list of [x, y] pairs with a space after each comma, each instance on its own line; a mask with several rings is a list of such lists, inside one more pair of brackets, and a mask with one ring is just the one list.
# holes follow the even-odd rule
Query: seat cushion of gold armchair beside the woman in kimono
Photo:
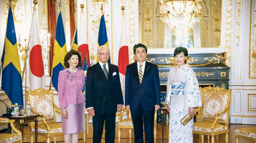
[[[211, 132], [212, 122], [194, 122], [193, 131]], [[227, 130], [227, 126], [216, 123], [214, 132]]]

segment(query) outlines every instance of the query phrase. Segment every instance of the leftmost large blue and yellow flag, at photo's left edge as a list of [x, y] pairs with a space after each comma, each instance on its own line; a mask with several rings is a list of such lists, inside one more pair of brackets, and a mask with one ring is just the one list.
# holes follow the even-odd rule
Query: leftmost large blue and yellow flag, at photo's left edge
[[23, 105], [21, 69], [11, 7], [9, 8], [2, 62], [2, 89], [13, 104]]

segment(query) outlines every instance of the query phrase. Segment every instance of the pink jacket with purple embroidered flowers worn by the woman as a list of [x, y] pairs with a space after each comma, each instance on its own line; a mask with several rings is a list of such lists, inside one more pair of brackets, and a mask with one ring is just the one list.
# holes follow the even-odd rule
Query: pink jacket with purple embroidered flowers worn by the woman
[[84, 71], [79, 68], [75, 73], [67, 68], [59, 72], [58, 95], [61, 108], [67, 107], [67, 104], [80, 104], [85, 101], [82, 92], [84, 80]]

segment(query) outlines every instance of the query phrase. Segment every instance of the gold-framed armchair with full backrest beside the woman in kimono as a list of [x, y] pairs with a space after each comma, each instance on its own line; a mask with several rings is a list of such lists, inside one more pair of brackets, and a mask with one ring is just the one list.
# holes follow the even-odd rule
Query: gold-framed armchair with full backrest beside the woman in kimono
[[211, 136], [214, 143], [215, 135], [226, 133], [226, 143], [229, 133], [229, 115], [231, 89], [220, 87], [205, 87], [201, 122], [193, 123], [193, 133], [200, 134], [202, 143], [204, 135]]

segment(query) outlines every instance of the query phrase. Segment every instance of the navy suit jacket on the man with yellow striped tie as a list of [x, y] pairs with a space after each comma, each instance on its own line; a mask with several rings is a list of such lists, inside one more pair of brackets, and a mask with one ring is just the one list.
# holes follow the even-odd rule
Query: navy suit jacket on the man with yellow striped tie
[[142, 83], [139, 83], [137, 62], [126, 67], [125, 73], [125, 105], [130, 110], [155, 110], [160, 105], [160, 80], [158, 67], [146, 61]]

